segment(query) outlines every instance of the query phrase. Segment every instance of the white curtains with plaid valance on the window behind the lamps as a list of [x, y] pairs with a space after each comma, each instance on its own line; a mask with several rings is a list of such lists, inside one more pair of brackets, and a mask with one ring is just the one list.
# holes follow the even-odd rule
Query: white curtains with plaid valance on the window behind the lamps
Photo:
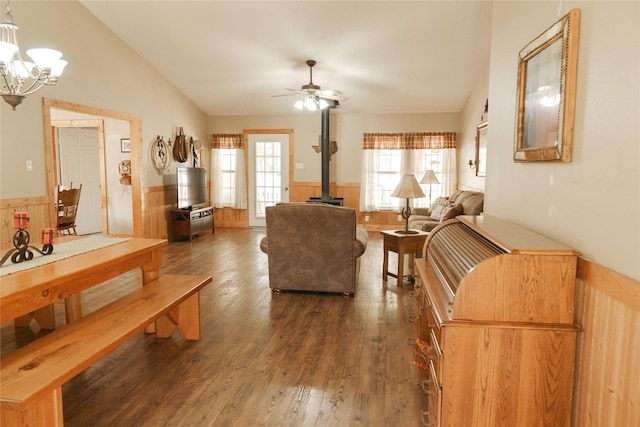
[[[365, 133], [362, 143], [362, 168], [360, 187], [360, 211], [381, 210], [376, 205], [376, 179], [378, 158], [376, 150], [402, 150], [400, 175], [412, 173], [418, 182], [429, 169], [423, 150], [438, 150], [442, 170], [437, 174], [441, 194], [449, 195], [456, 190], [456, 133], [455, 132], [414, 132], [414, 133]], [[398, 199], [397, 209], [405, 201]], [[425, 203], [427, 203], [425, 201]], [[424, 203], [420, 203], [424, 205]], [[427, 203], [428, 204], [428, 203]]]

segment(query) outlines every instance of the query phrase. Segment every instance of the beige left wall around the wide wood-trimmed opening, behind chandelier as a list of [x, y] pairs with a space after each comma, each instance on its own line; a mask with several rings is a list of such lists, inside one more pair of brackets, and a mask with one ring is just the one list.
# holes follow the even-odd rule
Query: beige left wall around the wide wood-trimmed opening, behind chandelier
[[[176, 127], [184, 126], [188, 135], [207, 139], [206, 115], [80, 3], [21, 1], [11, 9], [23, 54], [37, 45], [58, 48], [69, 65], [56, 87], [27, 97], [16, 111], [0, 102], [0, 199], [47, 194], [43, 97], [141, 116], [143, 187], [163, 185], [148, 161], [156, 135], [173, 140]], [[26, 171], [27, 160], [33, 161], [33, 172]]]

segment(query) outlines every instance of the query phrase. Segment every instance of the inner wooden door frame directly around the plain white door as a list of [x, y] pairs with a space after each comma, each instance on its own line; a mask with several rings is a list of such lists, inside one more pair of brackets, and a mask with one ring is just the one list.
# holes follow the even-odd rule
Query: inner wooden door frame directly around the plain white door
[[101, 210], [102, 210], [102, 234], [109, 235], [109, 213], [107, 210], [107, 177], [106, 177], [106, 156], [105, 156], [105, 146], [104, 146], [104, 120], [102, 119], [71, 119], [71, 120], [52, 120], [51, 121], [51, 138], [53, 139], [53, 161], [55, 164], [55, 184], [54, 187], [57, 187], [60, 183], [58, 182], [58, 172], [59, 164], [57, 159], [56, 149], [56, 129], [57, 128], [79, 128], [79, 127], [90, 127], [90, 128], [98, 128], [98, 155], [100, 163], [100, 201], [101, 201]]

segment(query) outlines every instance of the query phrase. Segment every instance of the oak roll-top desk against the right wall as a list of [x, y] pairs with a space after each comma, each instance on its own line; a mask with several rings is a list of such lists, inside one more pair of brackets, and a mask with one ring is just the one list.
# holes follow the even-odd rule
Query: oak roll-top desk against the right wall
[[434, 229], [416, 261], [424, 423], [569, 426], [578, 253], [498, 218], [472, 218]]

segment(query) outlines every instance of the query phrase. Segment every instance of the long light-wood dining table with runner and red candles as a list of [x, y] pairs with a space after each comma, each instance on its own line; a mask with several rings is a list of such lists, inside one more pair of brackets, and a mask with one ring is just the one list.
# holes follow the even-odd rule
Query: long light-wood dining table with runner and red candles
[[130, 239], [59, 261], [3, 276], [0, 281], [0, 323], [32, 318], [55, 328], [53, 303], [65, 300], [67, 322], [82, 317], [80, 292], [135, 268], [142, 283], [160, 275], [164, 239]]

